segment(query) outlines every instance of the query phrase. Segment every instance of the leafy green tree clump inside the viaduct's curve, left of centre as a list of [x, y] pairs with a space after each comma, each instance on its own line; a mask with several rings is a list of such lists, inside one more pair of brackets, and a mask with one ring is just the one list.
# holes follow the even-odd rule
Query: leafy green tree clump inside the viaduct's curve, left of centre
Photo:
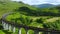
[[24, 24], [24, 25], [29, 25], [30, 23], [32, 23], [32, 19], [30, 19], [30, 17], [27, 16], [22, 16], [20, 18], [16, 18], [15, 21], [20, 20], [21, 23], [19, 24]]

